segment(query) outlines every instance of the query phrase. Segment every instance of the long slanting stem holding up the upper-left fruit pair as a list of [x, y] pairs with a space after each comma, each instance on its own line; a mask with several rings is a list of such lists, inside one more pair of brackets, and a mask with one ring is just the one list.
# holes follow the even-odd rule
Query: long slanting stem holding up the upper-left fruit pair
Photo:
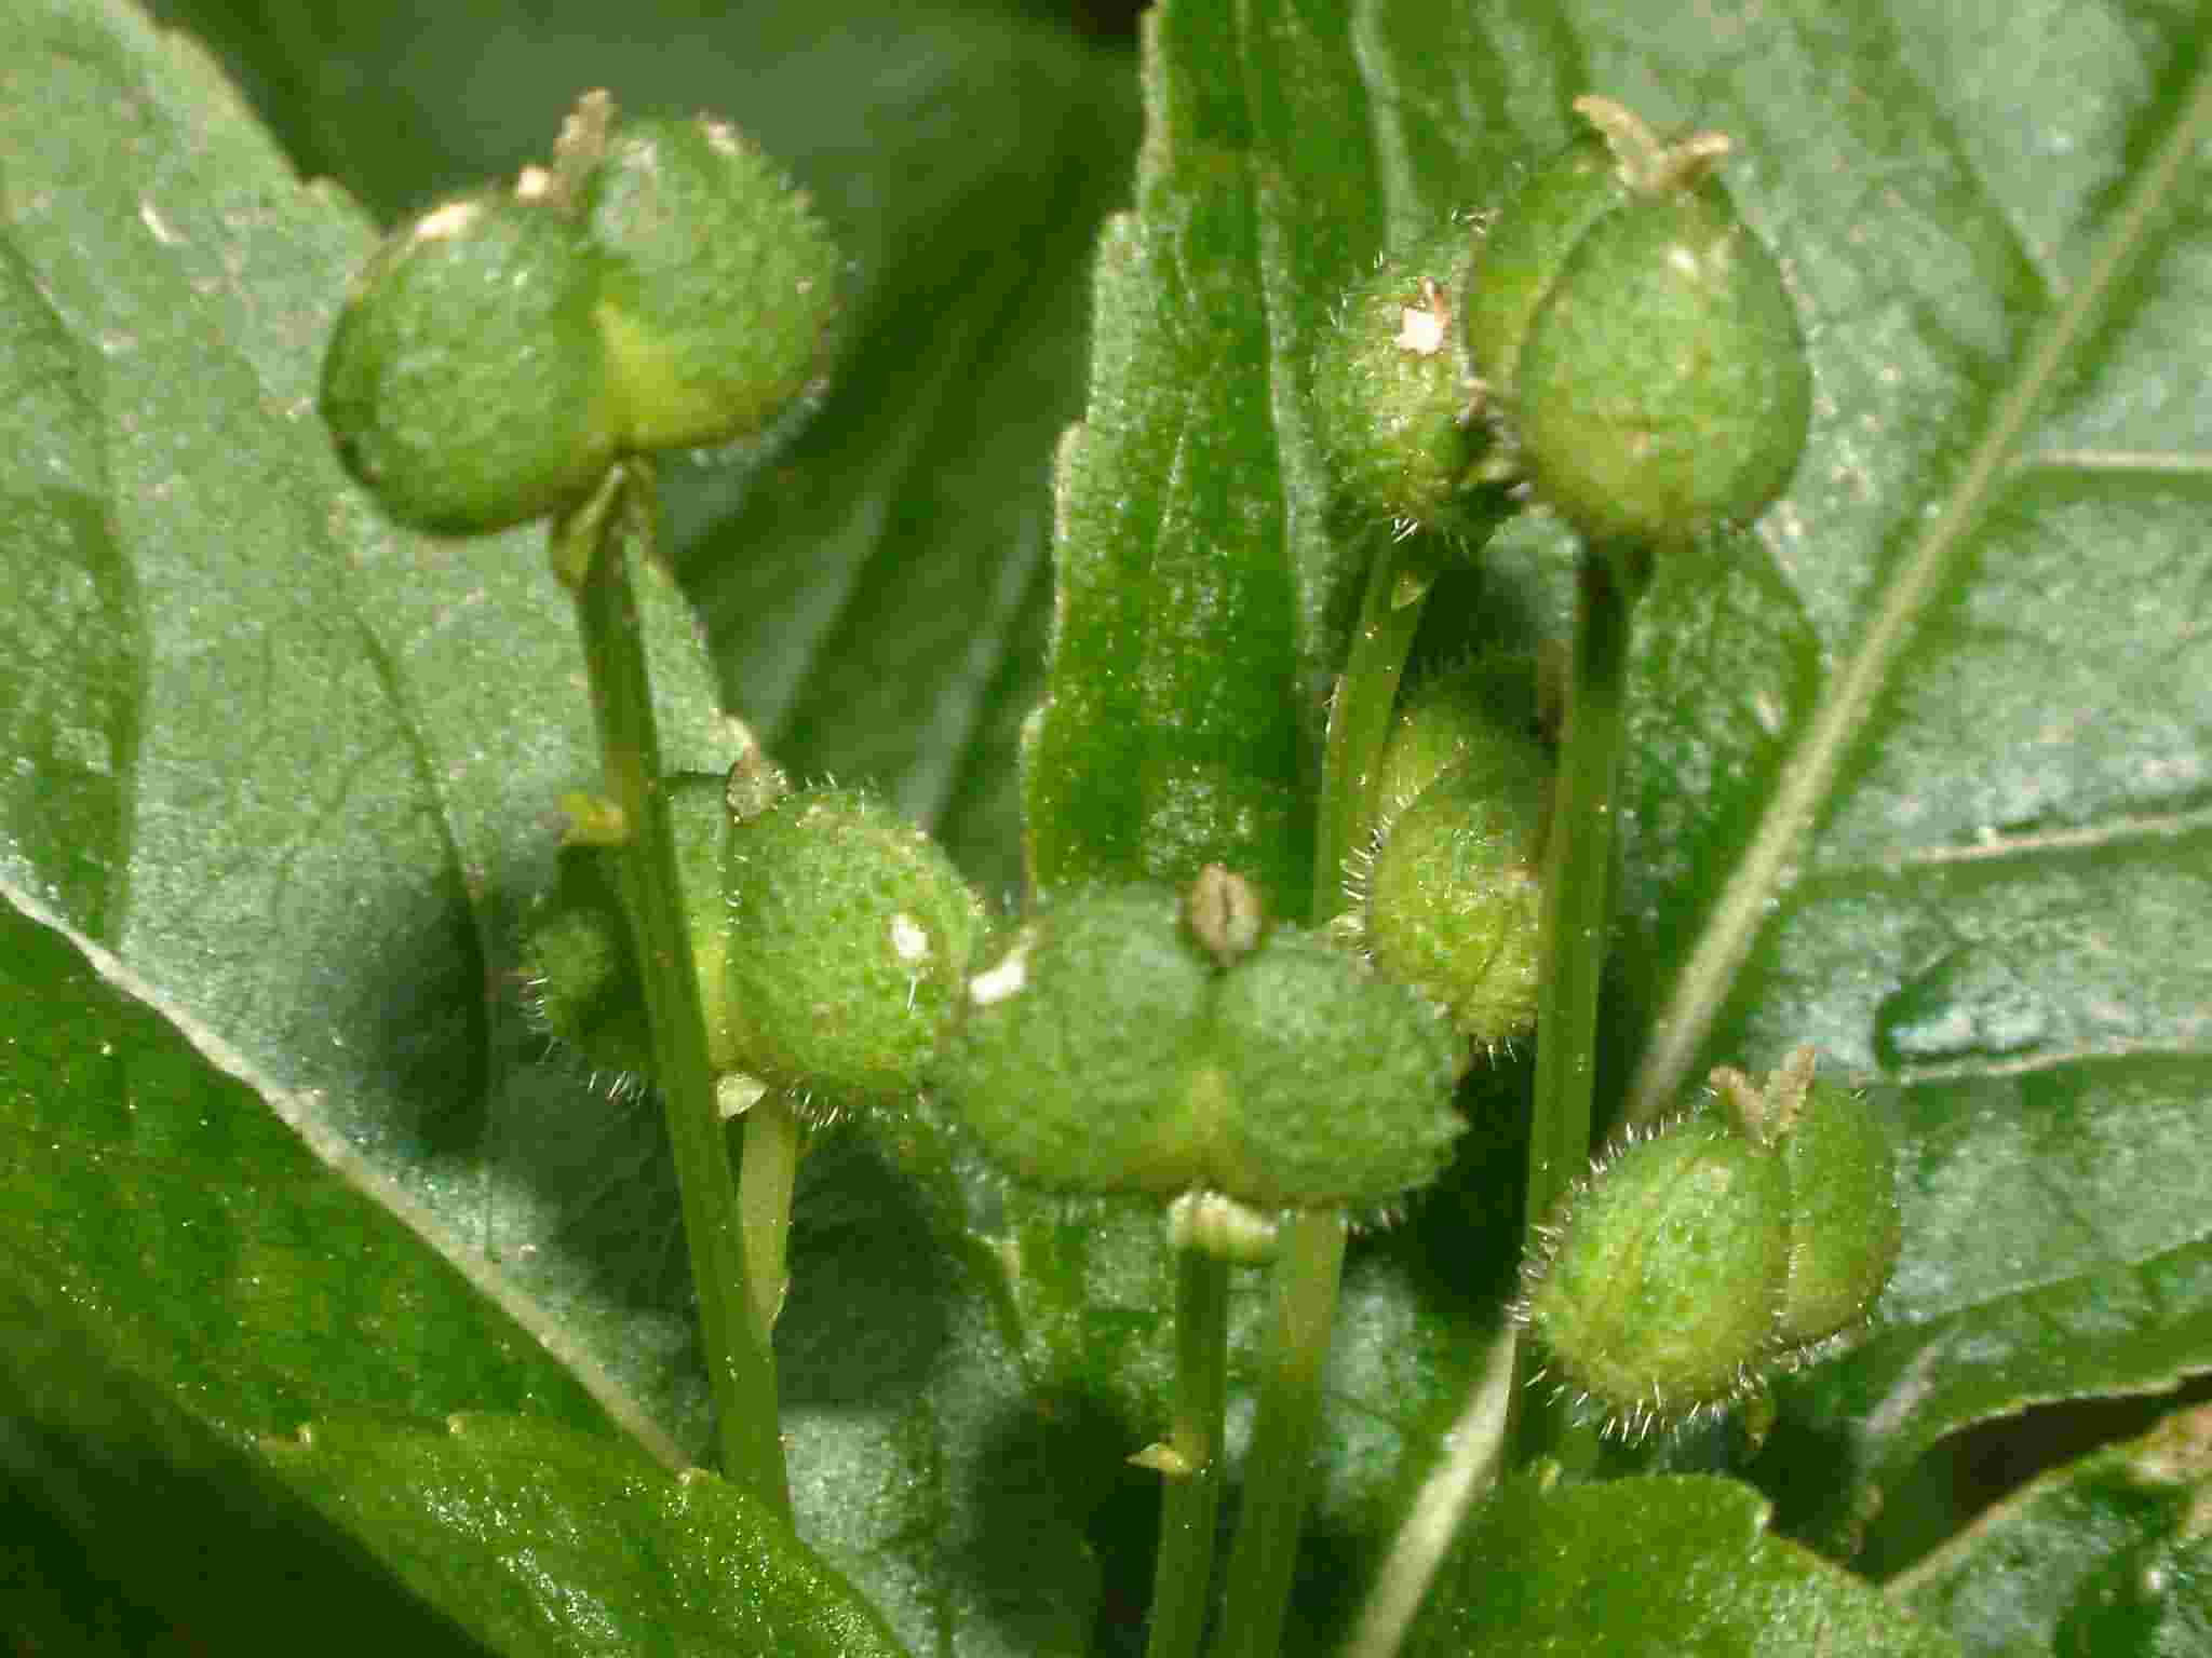
[[628, 825], [635, 853], [619, 860], [622, 898], [637, 928], [646, 1017], [668, 1105], [668, 1141], [699, 1295], [699, 1335], [714, 1393], [721, 1472], [776, 1512], [790, 1514], [776, 1430], [776, 1362], [752, 1318], [737, 1183], [714, 1101], [668, 798], [659, 787], [653, 685], [637, 595], [630, 588], [630, 555], [650, 553], [653, 517], [653, 475], [635, 464], [615, 466], [584, 506], [553, 526], [553, 573], [575, 595], [604, 787]]

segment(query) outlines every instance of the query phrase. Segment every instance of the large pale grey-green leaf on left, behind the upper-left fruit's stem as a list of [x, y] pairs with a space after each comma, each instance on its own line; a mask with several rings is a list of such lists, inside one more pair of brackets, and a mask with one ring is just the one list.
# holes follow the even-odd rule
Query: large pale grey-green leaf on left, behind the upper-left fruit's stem
[[[343, 480], [314, 376], [369, 228], [296, 186], [188, 44], [82, 2], [7, 20], [9, 332], [44, 329], [80, 405], [53, 427], [11, 405], [44, 489], [15, 495], [13, 557], [66, 500], [44, 480], [97, 478], [77, 601], [9, 617], [27, 701], [80, 732], [13, 765], [33, 805], [0, 844], [11, 898], [111, 948], [316, 1143], [422, 1205], [445, 1251], [504, 1256], [484, 1282], [619, 1373], [595, 1382], [619, 1413], [681, 1435], [655, 1362], [681, 1326], [544, 1247], [542, 1134], [575, 1121], [575, 1090], [546, 1088], [484, 995], [555, 796], [597, 772], [542, 537], [400, 537]], [[668, 747], [712, 763], [726, 738], [672, 592], [650, 626]], [[113, 791], [93, 842], [64, 807], [86, 774]]]

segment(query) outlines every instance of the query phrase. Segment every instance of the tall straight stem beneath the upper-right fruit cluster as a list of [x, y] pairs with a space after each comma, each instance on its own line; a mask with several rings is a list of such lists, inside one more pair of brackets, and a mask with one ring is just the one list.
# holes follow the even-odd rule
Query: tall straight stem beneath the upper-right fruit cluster
[[[1535, 1121], [1528, 1130], [1528, 1242], [1559, 1194], [1588, 1167], [1590, 1094], [1597, 1081], [1597, 990], [1606, 968], [1613, 906], [1613, 833], [1628, 705], [1628, 632], [1635, 577], [1595, 550], [1577, 573], [1575, 659], [1553, 794], [1551, 847], [1544, 869], [1544, 982], [1535, 1015]], [[1528, 1344], [1522, 1366], [1528, 1368]], [[1526, 1375], [1522, 1377], [1526, 1382]], [[1515, 1399], [1522, 1395], [1515, 1393]], [[1524, 1419], [1531, 1435], [1557, 1437], [1546, 1413]]]

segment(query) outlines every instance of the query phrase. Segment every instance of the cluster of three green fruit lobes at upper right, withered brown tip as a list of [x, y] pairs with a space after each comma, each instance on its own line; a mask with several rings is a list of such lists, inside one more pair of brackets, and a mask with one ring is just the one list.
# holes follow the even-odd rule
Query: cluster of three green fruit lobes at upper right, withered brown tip
[[1451, 524], [1524, 478], [1595, 544], [1756, 517], [1805, 449], [1812, 369], [1774, 254], [1712, 177], [1608, 97], [1480, 228], [1447, 225], [1345, 301], [1314, 374], [1343, 491]]

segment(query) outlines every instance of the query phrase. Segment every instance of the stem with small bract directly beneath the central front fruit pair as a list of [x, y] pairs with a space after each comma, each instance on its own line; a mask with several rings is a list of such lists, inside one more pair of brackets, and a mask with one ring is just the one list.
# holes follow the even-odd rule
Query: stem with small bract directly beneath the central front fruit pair
[[1203, 1249], [1175, 1262], [1175, 1428], [1179, 1468], [1164, 1475], [1159, 1559], [1152, 1567], [1152, 1636], [1146, 1658], [1197, 1658], [1206, 1592], [1214, 1578], [1221, 1508], [1221, 1415], [1230, 1388], [1230, 1267]]

